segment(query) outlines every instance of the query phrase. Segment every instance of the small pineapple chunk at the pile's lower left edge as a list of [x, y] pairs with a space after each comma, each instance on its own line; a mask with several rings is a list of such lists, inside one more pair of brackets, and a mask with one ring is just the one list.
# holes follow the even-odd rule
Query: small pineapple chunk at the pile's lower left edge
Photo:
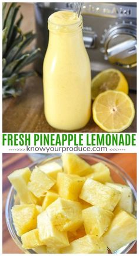
[[32, 231], [24, 233], [21, 236], [21, 241], [24, 249], [32, 249], [44, 245], [44, 243], [39, 240], [38, 229], [33, 229]]

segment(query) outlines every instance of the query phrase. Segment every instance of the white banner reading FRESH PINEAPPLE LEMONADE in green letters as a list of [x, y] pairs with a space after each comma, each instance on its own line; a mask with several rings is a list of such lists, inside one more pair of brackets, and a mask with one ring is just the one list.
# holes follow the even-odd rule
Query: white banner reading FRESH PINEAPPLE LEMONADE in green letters
[[3, 133], [2, 152], [137, 152], [136, 133]]

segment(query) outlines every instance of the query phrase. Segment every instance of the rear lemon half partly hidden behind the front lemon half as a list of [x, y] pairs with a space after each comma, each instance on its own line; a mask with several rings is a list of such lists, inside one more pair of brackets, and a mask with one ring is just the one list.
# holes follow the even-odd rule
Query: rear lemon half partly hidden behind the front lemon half
[[128, 94], [128, 82], [123, 73], [117, 69], [105, 69], [98, 73], [91, 82], [91, 95], [94, 100], [101, 92], [112, 89]]

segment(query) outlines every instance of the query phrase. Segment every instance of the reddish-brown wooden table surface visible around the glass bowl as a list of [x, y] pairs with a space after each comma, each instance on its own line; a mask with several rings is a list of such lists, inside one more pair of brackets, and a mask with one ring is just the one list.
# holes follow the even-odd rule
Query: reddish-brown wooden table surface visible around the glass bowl
[[[137, 181], [137, 159], [136, 153], [101, 153], [98, 154], [105, 156], [119, 165], [127, 172], [136, 184]], [[31, 164], [31, 159], [25, 153], [4, 153], [3, 154], [3, 253], [16, 254], [22, 253], [21, 250], [12, 241], [5, 223], [5, 202], [8, 196], [9, 188], [11, 187], [7, 176], [12, 171], [19, 168], [24, 168]], [[130, 253], [136, 253], [136, 245], [131, 249]]]

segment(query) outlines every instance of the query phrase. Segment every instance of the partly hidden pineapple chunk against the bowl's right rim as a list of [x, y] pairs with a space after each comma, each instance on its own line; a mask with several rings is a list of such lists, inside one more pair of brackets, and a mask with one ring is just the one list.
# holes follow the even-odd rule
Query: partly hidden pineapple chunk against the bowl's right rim
[[117, 206], [123, 210], [132, 213], [133, 212], [133, 193], [130, 187], [127, 185], [121, 185], [116, 183], [106, 183], [106, 185], [117, 189], [121, 192], [121, 199], [118, 202]]

